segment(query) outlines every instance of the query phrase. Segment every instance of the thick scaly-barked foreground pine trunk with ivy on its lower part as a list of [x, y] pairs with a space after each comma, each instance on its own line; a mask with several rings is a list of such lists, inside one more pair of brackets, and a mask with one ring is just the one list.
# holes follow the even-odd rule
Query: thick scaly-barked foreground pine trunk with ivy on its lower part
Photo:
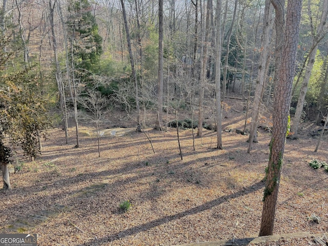
[[[271, 3], [276, 11], [276, 49], [278, 50], [276, 53], [275, 68], [273, 130], [270, 141], [268, 175], [264, 189], [263, 211], [259, 236], [273, 234], [280, 173], [292, 98], [292, 86], [302, 7], [301, 0], [289, 0], [286, 23], [284, 25], [284, 1], [271, 0]], [[284, 26], [285, 28], [283, 28]], [[277, 66], [278, 64], [281, 66]]]

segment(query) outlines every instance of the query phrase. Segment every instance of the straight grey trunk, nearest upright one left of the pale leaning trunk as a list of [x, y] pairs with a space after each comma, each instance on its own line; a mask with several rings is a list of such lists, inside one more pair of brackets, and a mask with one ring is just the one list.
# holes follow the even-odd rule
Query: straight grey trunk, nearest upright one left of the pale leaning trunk
[[221, 0], [216, 4], [216, 63], [215, 63], [215, 104], [216, 104], [216, 148], [222, 150], [221, 124]]

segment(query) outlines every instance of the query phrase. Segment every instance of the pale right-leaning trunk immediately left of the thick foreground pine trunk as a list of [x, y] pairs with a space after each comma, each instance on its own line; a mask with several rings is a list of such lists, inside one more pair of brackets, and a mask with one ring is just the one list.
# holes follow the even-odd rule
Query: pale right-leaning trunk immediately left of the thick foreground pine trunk
[[264, 7], [264, 16], [263, 16], [263, 32], [262, 32], [262, 40], [261, 40], [261, 54], [257, 72], [257, 80], [256, 80], [256, 88], [254, 94], [254, 105], [252, 111], [252, 124], [251, 124], [251, 132], [250, 137], [248, 139], [249, 147], [247, 153], [251, 152], [253, 140], [256, 136], [257, 132], [257, 121], [259, 116], [259, 106], [261, 102], [261, 94], [263, 91], [263, 84], [264, 84], [264, 76], [265, 76], [265, 68], [267, 67], [268, 61], [268, 50], [269, 50], [269, 43], [270, 43], [270, 31], [272, 29], [272, 12], [273, 6], [271, 5], [270, 0], [265, 1]]

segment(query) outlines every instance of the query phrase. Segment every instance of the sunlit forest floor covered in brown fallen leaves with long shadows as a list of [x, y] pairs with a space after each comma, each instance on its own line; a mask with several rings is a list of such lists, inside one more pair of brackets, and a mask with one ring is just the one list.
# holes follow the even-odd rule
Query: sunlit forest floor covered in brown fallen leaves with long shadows
[[[180, 130], [183, 160], [173, 128], [148, 131], [153, 153], [144, 133], [112, 136], [104, 126], [100, 157], [91, 127], [81, 127], [80, 148], [74, 148], [73, 128], [68, 145], [64, 131], [50, 130], [42, 156], [33, 162], [18, 156], [13, 163], [13, 189], [0, 191], [0, 233], [37, 233], [39, 245], [75, 246], [257, 237], [271, 136], [259, 129], [248, 154], [248, 136], [236, 131], [244, 127], [241, 101], [226, 103], [223, 150], [215, 149], [216, 132], [203, 130], [194, 151], [192, 130]], [[108, 126], [133, 126], [124, 112], [112, 118], [118, 122], [112, 119]], [[262, 121], [270, 126], [269, 116]], [[299, 139], [286, 140], [274, 234], [328, 232], [328, 173], [309, 166], [313, 159], [328, 162], [328, 134], [315, 153], [315, 129], [305, 122]], [[128, 200], [130, 210], [119, 210]], [[317, 244], [307, 237], [249, 245]]]

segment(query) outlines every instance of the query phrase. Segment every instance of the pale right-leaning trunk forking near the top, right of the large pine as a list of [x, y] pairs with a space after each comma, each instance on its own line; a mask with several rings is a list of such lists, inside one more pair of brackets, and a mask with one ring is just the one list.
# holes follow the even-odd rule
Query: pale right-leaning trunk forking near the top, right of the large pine
[[321, 12], [321, 19], [320, 23], [317, 29], [315, 29], [313, 23], [312, 23], [312, 13], [311, 13], [311, 8], [310, 8], [311, 1], [308, 1], [308, 10], [309, 10], [309, 16], [310, 16], [310, 25], [311, 25], [311, 30], [312, 30], [312, 36], [313, 36], [313, 42], [312, 42], [312, 49], [309, 55], [308, 59], [308, 66], [305, 69], [305, 74], [297, 102], [297, 107], [296, 107], [296, 112], [295, 116], [293, 118], [293, 124], [291, 126], [291, 133], [293, 138], [297, 138], [298, 134], [298, 127], [301, 119], [301, 115], [303, 112], [303, 106], [304, 106], [304, 101], [305, 101], [305, 95], [306, 91], [308, 90], [308, 84], [310, 81], [311, 73], [312, 73], [312, 68], [315, 62], [316, 54], [317, 54], [317, 49], [318, 49], [318, 40], [321, 40], [321, 38], [325, 35], [325, 32], [323, 31], [323, 27], [326, 24], [327, 20], [327, 15], [328, 15], [328, 1], [323, 1], [323, 6], [322, 6], [322, 12]]

